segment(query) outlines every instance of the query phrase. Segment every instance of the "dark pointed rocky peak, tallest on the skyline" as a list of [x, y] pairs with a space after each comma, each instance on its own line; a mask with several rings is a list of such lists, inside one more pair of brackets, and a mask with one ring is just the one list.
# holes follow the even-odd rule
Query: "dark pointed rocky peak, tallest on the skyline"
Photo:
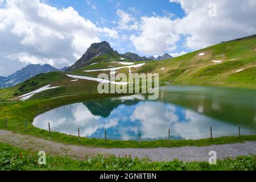
[[78, 68], [83, 67], [84, 65], [90, 64], [90, 62], [100, 56], [109, 57], [119, 57], [119, 53], [114, 51], [112, 47], [110, 47], [109, 43], [104, 41], [101, 43], [93, 43], [87, 51], [82, 55], [82, 57], [76, 61], [71, 67], [67, 69], [67, 71], [72, 71]]

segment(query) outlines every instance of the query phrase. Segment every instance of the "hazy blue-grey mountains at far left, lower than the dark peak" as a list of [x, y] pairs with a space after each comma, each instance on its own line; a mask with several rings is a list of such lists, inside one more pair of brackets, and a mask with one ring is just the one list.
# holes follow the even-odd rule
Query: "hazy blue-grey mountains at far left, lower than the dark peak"
[[40, 73], [48, 73], [54, 71], [64, 71], [67, 68], [57, 69], [52, 67], [49, 64], [29, 64], [27, 67], [16, 71], [12, 75], [8, 77], [0, 76], [0, 88], [8, 88], [10, 86], [14, 86], [19, 84], [20, 82], [26, 81], [31, 77], [39, 75]]

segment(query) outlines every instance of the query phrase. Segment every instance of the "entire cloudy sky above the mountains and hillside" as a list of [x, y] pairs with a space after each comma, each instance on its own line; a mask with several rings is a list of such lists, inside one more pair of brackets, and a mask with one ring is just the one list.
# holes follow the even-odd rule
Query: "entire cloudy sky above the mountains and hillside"
[[255, 0], [0, 0], [0, 76], [73, 64], [106, 40], [120, 53], [179, 56], [256, 33]]

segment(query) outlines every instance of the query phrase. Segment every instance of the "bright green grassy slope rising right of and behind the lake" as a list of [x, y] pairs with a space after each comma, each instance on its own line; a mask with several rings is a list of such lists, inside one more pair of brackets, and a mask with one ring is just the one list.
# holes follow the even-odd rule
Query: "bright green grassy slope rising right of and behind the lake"
[[[138, 72], [159, 73], [161, 81], [175, 84], [256, 88], [255, 48], [256, 39], [217, 44], [174, 59], [152, 61]], [[199, 56], [200, 52], [205, 55]], [[236, 73], [240, 69], [244, 70]]]

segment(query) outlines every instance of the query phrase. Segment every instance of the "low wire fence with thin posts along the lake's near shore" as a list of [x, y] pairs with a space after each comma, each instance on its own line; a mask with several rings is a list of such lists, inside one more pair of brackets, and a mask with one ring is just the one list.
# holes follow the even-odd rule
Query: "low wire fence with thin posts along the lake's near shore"
[[[25, 122], [19, 122], [19, 123], [13, 123], [13, 122], [8, 122], [8, 119], [5, 119], [5, 127], [14, 127], [16, 130], [24, 130], [24, 131], [28, 131], [28, 126], [33, 126], [28, 125], [27, 121]], [[33, 126], [34, 127], [34, 126]], [[40, 129], [44, 129], [44, 130], [48, 130], [49, 135], [51, 135], [51, 130], [53, 129], [54, 132], [64, 132], [66, 134], [72, 134], [72, 135], [76, 135], [78, 137], [78, 139], [80, 140], [81, 138], [81, 134], [84, 135], [86, 138], [90, 138], [90, 136], [92, 136], [92, 133], [86, 133], [84, 131], [81, 131], [80, 128], [78, 128], [77, 130], [67, 130], [67, 129], [60, 129], [58, 127], [55, 126], [51, 126], [50, 123], [48, 123], [47, 125], [36, 125], [36, 127], [39, 127]], [[93, 134], [93, 136], [98, 135], [97, 138], [101, 138], [101, 139], [105, 139], [105, 143], [107, 142], [107, 137], [108, 138], [137, 138], [137, 140], [139, 140], [139, 144], [141, 143], [141, 139], [142, 137], [144, 138], [156, 138], [156, 137], [164, 137], [164, 136], [168, 136], [168, 142], [170, 142], [171, 137], [177, 137], [177, 135], [195, 135], [195, 134], [203, 134], [203, 133], [209, 133], [209, 138], [213, 139], [213, 131], [236, 131], [236, 134], [238, 137], [241, 137], [241, 130], [250, 130], [251, 133], [256, 133], [256, 128], [253, 127], [233, 127], [230, 129], [213, 129], [213, 127], [209, 127], [209, 130], [204, 130], [204, 131], [198, 131], [198, 132], [194, 132], [194, 133], [179, 133], [179, 132], [175, 132], [174, 130], [168, 129], [167, 132], [164, 133], [160, 133], [160, 134], [148, 134], [148, 133], [143, 133], [141, 132], [141, 130], [138, 130], [138, 133], [134, 133], [134, 134], [116, 134], [116, 133], [109, 133], [107, 130], [104, 131], [104, 133], [97, 133], [97, 134]], [[166, 138], [164, 137], [164, 138]], [[94, 138], [94, 137], [93, 137]]]

